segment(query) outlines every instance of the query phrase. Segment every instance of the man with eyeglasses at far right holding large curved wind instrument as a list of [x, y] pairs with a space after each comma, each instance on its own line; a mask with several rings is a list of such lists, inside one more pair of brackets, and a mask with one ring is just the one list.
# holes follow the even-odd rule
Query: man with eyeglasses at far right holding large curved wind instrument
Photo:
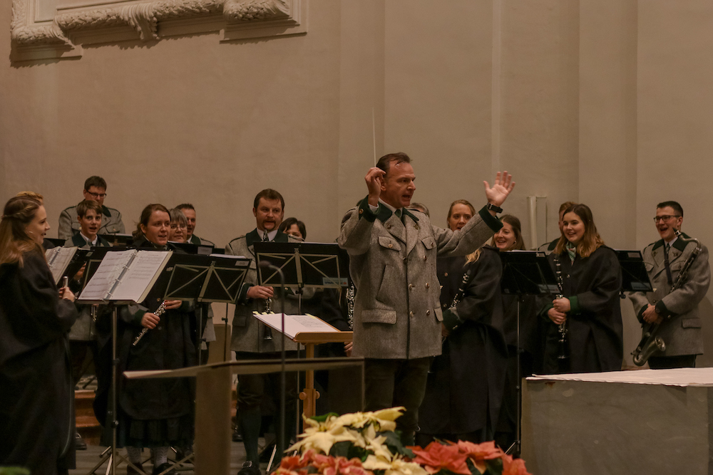
[[649, 366], [653, 369], [695, 367], [696, 356], [703, 354], [698, 304], [706, 296], [711, 279], [708, 249], [701, 246], [702, 251], [692, 262], [681, 286], [671, 291], [696, 243], [686, 234], [676, 235], [683, 224], [683, 208], [677, 202], [659, 203], [654, 223], [661, 239], [646, 246], [643, 253], [654, 291], [630, 293], [629, 298], [642, 324], [661, 325], [657, 336], [664, 340], [666, 348], [649, 358]]

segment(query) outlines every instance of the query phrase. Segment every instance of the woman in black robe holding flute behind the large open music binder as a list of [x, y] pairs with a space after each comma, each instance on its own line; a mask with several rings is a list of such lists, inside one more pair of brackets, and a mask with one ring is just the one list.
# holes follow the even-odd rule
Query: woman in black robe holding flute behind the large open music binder
[[[161, 204], [149, 204], [143, 209], [134, 231], [133, 245], [139, 249], [180, 252], [168, 244], [170, 222], [168, 209]], [[151, 291], [140, 306], [120, 308], [117, 328], [119, 374], [124, 371], [177, 370], [196, 364], [193, 303], [165, 301], [165, 313], [156, 315], [161, 303], [163, 293]], [[144, 328], [148, 331], [133, 345]], [[111, 354], [110, 345], [103, 348], [105, 358], [107, 354]], [[108, 385], [103, 385], [102, 389], [102, 400], [106, 401]], [[119, 378], [117, 394], [118, 446], [126, 447], [132, 464], [143, 469], [141, 449], [150, 447], [153, 474], [158, 474], [170, 466], [167, 460], [170, 447], [185, 448], [193, 444], [193, 387], [189, 378]], [[128, 466], [127, 473], [138, 472]]]

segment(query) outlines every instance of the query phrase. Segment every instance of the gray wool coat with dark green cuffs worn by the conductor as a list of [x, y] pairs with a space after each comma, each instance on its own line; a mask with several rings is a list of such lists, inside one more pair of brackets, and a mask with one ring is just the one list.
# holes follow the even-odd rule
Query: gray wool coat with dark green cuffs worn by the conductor
[[354, 298], [352, 355], [412, 359], [441, 354], [441, 293], [436, 256], [465, 256], [502, 227], [483, 207], [460, 231], [431, 224], [426, 214], [404, 221], [365, 198], [344, 216], [339, 246], [350, 256]]

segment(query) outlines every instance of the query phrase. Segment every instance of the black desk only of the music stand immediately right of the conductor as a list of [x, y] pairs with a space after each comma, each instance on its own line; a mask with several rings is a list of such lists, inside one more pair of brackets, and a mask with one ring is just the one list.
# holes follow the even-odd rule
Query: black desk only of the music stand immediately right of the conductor
[[540, 295], [558, 293], [557, 278], [541, 251], [507, 251], [500, 253], [503, 261], [503, 293]]

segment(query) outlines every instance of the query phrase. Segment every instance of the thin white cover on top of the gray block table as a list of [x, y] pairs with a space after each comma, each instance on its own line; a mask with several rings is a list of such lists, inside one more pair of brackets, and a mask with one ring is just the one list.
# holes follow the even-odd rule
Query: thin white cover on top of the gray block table
[[624, 382], [632, 385], [713, 386], [713, 367], [674, 370], [581, 372], [571, 375], [531, 376], [528, 381]]

